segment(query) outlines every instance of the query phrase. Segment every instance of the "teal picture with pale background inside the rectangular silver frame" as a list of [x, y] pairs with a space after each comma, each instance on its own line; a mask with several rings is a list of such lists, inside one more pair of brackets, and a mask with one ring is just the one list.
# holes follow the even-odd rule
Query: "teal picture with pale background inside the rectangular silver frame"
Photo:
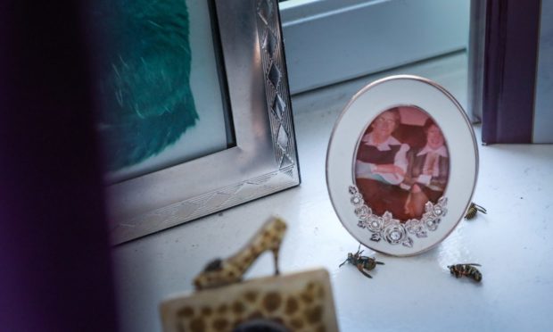
[[96, 127], [108, 184], [235, 144], [211, 1], [100, 1], [94, 8], [103, 16], [93, 30], [104, 42], [95, 59]]

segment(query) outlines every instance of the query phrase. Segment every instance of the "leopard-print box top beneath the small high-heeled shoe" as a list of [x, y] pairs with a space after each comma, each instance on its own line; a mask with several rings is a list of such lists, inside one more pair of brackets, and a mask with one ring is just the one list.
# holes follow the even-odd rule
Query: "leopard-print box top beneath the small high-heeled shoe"
[[165, 332], [337, 331], [326, 270], [257, 278], [161, 303]]

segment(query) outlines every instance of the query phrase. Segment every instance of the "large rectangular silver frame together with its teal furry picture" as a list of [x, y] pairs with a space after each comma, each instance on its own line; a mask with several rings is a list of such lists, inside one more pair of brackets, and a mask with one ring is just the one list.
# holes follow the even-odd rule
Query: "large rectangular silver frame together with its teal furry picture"
[[276, 1], [86, 12], [114, 244], [300, 183]]

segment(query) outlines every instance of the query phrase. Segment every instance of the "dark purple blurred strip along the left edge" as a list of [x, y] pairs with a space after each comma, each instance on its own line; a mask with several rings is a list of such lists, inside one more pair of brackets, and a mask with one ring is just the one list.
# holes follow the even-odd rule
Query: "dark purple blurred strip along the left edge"
[[0, 4], [3, 331], [117, 329], [78, 4]]

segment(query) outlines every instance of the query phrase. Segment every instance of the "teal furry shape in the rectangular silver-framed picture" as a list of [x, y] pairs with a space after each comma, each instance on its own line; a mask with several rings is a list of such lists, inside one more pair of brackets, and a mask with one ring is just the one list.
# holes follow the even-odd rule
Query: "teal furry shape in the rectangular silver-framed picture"
[[105, 169], [120, 170], [161, 153], [198, 120], [188, 12], [184, 0], [96, 0], [87, 9]]

